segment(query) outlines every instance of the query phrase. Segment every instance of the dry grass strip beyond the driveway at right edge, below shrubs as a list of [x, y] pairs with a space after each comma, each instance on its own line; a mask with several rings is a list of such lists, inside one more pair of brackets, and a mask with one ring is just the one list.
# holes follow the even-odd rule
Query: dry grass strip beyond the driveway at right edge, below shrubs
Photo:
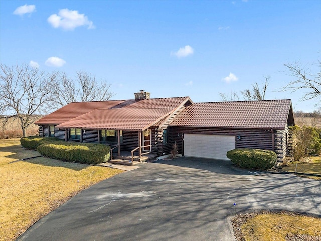
[[[320, 174], [321, 175], [321, 157], [310, 157], [306, 162], [290, 162], [286, 166], [282, 166], [282, 171]], [[313, 177], [313, 179], [321, 180], [320, 177]]]

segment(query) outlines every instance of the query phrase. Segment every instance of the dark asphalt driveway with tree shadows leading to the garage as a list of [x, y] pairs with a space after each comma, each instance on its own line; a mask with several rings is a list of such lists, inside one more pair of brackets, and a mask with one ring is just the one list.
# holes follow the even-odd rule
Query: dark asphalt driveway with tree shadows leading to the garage
[[199, 158], [140, 165], [74, 196], [18, 240], [235, 240], [233, 203], [237, 212], [321, 215], [320, 181]]

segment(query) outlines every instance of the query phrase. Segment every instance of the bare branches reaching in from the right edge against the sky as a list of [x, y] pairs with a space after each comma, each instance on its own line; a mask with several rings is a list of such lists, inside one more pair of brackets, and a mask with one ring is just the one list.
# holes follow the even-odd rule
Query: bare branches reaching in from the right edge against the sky
[[319, 98], [321, 96], [321, 61], [318, 61], [318, 72], [311, 73], [310, 67], [302, 66], [300, 63], [284, 64], [289, 71], [289, 75], [293, 76], [295, 80], [288, 83], [282, 88], [282, 91], [297, 91], [305, 90], [304, 96], [301, 100], [309, 100]]

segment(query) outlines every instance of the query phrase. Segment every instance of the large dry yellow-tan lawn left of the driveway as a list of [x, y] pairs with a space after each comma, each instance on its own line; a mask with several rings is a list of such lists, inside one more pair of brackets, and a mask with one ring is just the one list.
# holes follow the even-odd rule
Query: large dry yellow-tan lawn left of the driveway
[[0, 240], [14, 240], [81, 190], [121, 170], [61, 162], [25, 150], [19, 139], [0, 140]]

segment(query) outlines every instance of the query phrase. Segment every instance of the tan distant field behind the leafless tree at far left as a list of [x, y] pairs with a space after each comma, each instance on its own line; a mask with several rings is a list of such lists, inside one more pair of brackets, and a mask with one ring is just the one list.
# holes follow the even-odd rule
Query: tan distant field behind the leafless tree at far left
[[[38, 135], [38, 125], [32, 124], [27, 128], [27, 136]], [[20, 121], [17, 117], [10, 118], [6, 123], [0, 118], [0, 139], [22, 137]]]

